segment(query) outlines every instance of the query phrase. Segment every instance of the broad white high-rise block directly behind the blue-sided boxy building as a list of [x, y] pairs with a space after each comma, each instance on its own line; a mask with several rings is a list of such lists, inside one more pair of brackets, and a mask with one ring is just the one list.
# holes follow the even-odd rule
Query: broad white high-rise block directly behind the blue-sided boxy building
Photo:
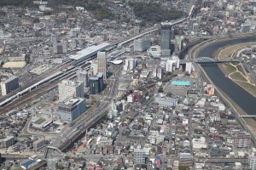
[[62, 82], [58, 84], [58, 88], [60, 102], [72, 96], [84, 98], [84, 82], [62, 80]]

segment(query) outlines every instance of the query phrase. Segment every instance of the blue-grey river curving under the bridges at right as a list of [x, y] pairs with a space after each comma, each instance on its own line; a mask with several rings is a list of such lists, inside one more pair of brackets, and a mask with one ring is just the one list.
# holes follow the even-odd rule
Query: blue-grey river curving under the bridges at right
[[[198, 57], [212, 57], [213, 52], [218, 48], [243, 42], [256, 42], [256, 37], [213, 43], [210, 46], [203, 48], [198, 54]], [[201, 66], [204, 71], [207, 72], [208, 77], [212, 79], [212, 82], [224, 91], [236, 105], [239, 105], [248, 115], [256, 115], [256, 98], [254, 98], [252, 94], [247, 93], [246, 90], [238, 86], [235, 82], [232, 82], [228, 77], [225, 77], [224, 73], [218, 68], [218, 65]]]

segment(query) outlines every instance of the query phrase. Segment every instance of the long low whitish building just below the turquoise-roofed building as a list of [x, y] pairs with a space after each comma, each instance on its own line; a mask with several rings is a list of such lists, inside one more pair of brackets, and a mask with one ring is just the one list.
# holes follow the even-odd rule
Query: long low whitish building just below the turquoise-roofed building
[[165, 94], [154, 94], [154, 102], [169, 107], [177, 105], [177, 99], [167, 97]]

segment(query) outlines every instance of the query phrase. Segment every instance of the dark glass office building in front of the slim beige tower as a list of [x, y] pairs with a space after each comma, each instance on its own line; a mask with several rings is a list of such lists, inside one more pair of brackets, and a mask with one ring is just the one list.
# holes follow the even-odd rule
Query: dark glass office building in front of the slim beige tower
[[100, 94], [104, 89], [103, 74], [99, 72], [96, 77], [89, 78], [90, 94]]

